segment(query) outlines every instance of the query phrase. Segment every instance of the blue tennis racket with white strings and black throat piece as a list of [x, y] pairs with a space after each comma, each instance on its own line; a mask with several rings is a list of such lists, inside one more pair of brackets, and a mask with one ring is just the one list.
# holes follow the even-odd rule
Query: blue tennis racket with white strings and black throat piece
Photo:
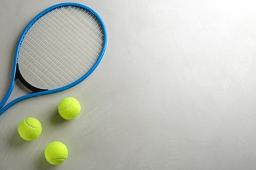
[[[66, 90], [87, 78], [100, 63], [106, 41], [102, 19], [85, 5], [61, 3], [43, 10], [20, 36], [0, 115], [18, 101]], [[18, 97], [12, 97], [14, 90], [20, 90]]]

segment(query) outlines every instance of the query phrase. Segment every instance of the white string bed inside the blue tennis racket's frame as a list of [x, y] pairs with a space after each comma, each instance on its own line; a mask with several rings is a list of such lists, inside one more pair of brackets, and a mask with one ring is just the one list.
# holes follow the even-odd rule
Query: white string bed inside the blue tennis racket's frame
[[60, 88], [85, 75], [104, 44], [98, 19], [79, 7], [52, 10], [33, 24], [20, 46], [20, 72], [38, 88]]

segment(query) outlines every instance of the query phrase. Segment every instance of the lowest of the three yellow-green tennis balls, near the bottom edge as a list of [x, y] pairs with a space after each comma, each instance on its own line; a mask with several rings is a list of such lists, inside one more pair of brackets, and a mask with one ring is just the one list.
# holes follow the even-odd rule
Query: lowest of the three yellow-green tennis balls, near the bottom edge
[[45, 148], [45, 158], [52, 165], [58, 165], [68, 158], [68, 148], [58, 141], [50, 143]]

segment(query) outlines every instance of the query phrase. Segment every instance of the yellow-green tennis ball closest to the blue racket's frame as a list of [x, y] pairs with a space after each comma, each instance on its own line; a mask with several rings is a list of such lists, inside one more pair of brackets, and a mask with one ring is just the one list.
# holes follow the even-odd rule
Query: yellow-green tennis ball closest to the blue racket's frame
[[81, 105], [74, 97], [66, 97], [58, 104], [58, 113], [66, 120], [74, 119], [80, 110]]

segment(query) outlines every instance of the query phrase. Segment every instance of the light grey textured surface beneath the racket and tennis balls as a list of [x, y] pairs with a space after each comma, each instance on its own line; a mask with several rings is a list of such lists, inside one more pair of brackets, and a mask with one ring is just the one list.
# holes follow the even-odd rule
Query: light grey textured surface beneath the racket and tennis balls
[[[0, 97], [16, 43], [42, 10], [63, 1], [0, 0]], [[27, 99], [0, 116], [0, 169], [256, 169], [256, 1], [76, 1], [106, 24], [95, 72], [70, 90]], [[82, 112], [62, 120], [58, 102]], [[20, 120], [43, 124], [23, 141]], [[69, 157], [47, 163], [62, 141]]]

